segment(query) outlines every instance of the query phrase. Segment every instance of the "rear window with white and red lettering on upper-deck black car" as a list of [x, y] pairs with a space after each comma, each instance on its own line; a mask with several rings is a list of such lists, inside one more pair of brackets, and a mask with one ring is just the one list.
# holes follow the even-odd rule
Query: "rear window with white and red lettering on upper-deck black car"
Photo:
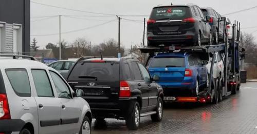
[[153, 20], [182, 20], [189, 16], [188, 7], [161, 7], [154, 8], [150, 18]]

